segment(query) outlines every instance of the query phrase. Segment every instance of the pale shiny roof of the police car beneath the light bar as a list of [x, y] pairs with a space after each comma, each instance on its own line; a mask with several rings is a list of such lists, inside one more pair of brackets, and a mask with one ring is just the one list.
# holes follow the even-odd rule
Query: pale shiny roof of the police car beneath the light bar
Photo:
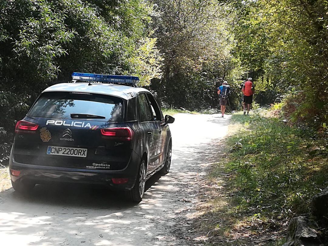
[[[62, 83], [48, 87], [43, 92], [88, 92], [103, 95], [112, 95], [129, 100], [138, 92], [149, 92], [147, 89], [115, 84], [92, 83]], [[42, 93], [43, 93], [42, 92]]]

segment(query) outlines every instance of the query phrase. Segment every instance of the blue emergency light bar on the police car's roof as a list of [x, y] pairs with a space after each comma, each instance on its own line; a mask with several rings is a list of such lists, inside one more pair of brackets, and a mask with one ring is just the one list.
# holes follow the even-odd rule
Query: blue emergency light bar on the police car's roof
[[109, 75], [109, 74], [96, 74], [96, 73], [72, 73], [73, 80], [83, 80], [100, 83], [127, 83], [137, 84], [139, 78], [135, 76], [124, 76], [124, 75]]

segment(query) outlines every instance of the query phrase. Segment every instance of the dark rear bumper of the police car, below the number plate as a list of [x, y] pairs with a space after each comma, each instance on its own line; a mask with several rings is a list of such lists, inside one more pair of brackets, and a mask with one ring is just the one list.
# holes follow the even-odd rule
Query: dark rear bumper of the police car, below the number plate
[[[18, 163], [15, 162], [11, 154], [9, 167], [13, 170], [19, 170], [20, 174], [13, 176], [10, 173], [10, 177], [13, 182], [26, 180], [36, 184], [49, 182], [84, 183], [104, 185], [113, 190], [131, 190], [137, 177], [140, 158], [133, 151], [129, 164], [123, 170], [110, 171]], [[128, 178], [129, 180], [126, 184], [113, 184], [112, 178]]]

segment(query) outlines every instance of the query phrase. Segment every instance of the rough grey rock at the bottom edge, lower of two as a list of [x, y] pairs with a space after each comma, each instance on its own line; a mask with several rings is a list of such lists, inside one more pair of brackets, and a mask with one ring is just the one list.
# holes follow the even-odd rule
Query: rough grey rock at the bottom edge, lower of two
[[320, 239], [313, 227], [315, 222], [299, 216], [291, 219], [287, 230], [287, 242], [282, 246], [320, 246]]

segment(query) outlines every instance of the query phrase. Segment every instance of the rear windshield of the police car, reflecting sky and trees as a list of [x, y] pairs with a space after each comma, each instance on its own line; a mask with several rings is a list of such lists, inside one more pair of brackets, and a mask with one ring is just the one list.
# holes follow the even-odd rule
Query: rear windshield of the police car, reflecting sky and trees
[[[121, 98], [102, 94], [76, 92], [45, 92], [28, 113], [29, 116], [72, 119], [71, 114], [103, 116], [93, 120], [122, 122], [124, 115]], [[76, 118], [74, 118], [76, 119]], [[83, 115], [80, 115], [80, 119]]]

